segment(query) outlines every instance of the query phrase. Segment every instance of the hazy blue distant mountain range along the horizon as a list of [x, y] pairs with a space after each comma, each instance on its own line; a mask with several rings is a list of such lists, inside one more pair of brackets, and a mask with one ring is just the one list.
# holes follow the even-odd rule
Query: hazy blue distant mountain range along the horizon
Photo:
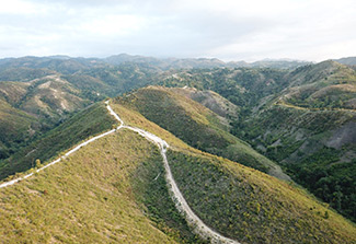
[[217, 58], [154, 58], [139, 55], [120, 54], [107, 58], [72, 58], [69, 56], [48, 57], [23, 57], [0, 59], [0, 67], [27, 67], [27, 68], [55, 68], [57, 71], [74, 72], [79, 69], [102, 67], [105, 65], [136, 63], [161, 70], [169, 69], [210, 69], [210, 68], [276, 68], [295, 69], [300, 66], [310, 65], [309, 61], [289, 59], [264, 59], [254, 62], [229, 61], [225, 62]]

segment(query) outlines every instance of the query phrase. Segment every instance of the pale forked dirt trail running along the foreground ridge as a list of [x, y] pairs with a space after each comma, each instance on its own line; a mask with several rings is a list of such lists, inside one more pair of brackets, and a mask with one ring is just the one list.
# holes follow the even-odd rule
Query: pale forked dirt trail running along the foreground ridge
[[[177, 208], [177, 210], [181, 212], [182, 216], [184, 216], [185, 220], [187, 221], [188, 225], [193, 229], [193, 231], [200, 235], [203, 239], [209, 239], [211, 243], [233, 243], [233, 244], [239, 244], [239, 242], [234, 241], [234, 240], [231, 240], [231, 239], [228, 239], [228, 237], [225, 237], [222, 236], [221, 234], [219, 234], [218, 232], [214, 231], [213, 229], [210, 229], [209, 226], [207, 226], [200, 219], [199, 217], [197, 217], [193, 210], [191, 209], [191, 207], [188, 206], [188, 204], [186, 202], [185, 198], [183, 197], [181, 190], [179, 189], [174, 178], [173, 178], [173, 175], [172, 175], [172, 172], [171, 172], [171, 167], [169, 165], [169, 162], [166, 160], [166, 150], [169, 148], [169, 144], [161, 138], [159, 138], [158, 136], [153, 135], [153, 133], [150, 133], [143, 129], [140, 129], [140, 128], [136, 128], [136, 127], [130, 127], [130, 126], [126, 126], [124, 124], [124, 121], [119, 118], [119, 116], [113, 111], [113, 108], [108, 105], [108, 101], [105, 102], [106, 104], [106, 108], [107, 111], [110, 112], [111, 115], [113, 115], [115, 117], [115, 119], [117, 121], [119, 121], [119, 126], [116, 128], [116, 129], [112, 129], [110, 131], [106, 131], [104, 133], [101, 133], [96, 137], [93, 137], [82, 143], [80, 143], [79, 146], [77, 146], [76, 148], [71, 149], [70, 151], [68, 151], [64, 156], [48, 163], [47, 165], [36, 170], [36, 172], [39, 172], [39, 171], [43, 171], [45, 170], [46, 167], [49, 167], [58, 162], [60, 162], [62, 159], [67, 158], [68, 155], [72, 154], [73, 152], [78, 151], [80, 148], [100, 139], [100, 138], [103, 138], [107, 135], [111, 135], [119, 129], [129, 129], [129, 130], [133, 130], [137, 133], [139, 133], [140, 136], [145, 137], [147, 140], [156, 143], [159, 149], [160, 149], [160, 152], [161, 152], [161, 155], [162, 155], [162, 159], [163, 159], [163, 164], [164, 164], [164, 169], [165, 169], [165, 179], [166, 179], [166, 184], [169, 186], [169, 189], [171, 191], [171, 197], [172, 197], [172, 200], [173, 202], [175, 204], [175, 207]], [[22, 177], [19, 177], [16, 179], [12, 179], [10, 182], [5, 182], [5, 183], [2, 183], [0, 185], [0, 188], [3, 188], [3, 187], [8, 187], [8, 186], [11, 186], [20, 181], [23, 181], [25, 178], [28, 178], [33, 175], [34, 173], [30, 173], [25, 176], [22, 176]]]

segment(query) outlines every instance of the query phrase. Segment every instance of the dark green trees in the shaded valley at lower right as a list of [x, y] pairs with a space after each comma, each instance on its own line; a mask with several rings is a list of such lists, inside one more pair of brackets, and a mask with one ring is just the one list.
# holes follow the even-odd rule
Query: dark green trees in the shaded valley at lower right
[[337, 162], [340, 152], [322, 148], [289, 166], [296, 181], [338, 212], [356, 221], [356, 161]]

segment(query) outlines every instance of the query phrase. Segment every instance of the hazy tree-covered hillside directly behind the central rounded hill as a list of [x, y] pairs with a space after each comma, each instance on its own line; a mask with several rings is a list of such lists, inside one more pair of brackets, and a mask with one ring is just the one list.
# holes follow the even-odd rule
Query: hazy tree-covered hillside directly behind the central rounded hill
[[276, 69], [194, 69], [164, 73], [159, 84], [164, 86], [196, 88], [213, 90], [241, 107], [241, 113], [249, 113], [262, 97], [275, 94], [288, 85], [284, 77], [286, 70]]

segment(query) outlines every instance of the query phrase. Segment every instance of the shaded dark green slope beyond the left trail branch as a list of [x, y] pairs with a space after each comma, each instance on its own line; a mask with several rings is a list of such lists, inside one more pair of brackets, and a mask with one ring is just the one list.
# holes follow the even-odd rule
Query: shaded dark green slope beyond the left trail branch
[[104, 104], [94, 104], [0, 162], [0, 178], [28, 170], [36, 159], [48, 160], [92, 135], [111, 129], [114, 124]]

